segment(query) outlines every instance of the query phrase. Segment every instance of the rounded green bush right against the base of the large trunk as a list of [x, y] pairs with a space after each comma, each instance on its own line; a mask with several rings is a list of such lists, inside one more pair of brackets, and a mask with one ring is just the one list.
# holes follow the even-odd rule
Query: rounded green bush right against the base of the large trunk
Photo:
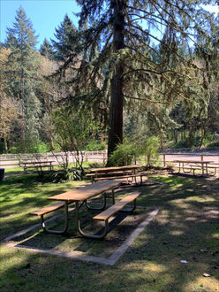
[[109, 165], [121, 166], [132, 165], [137, 158], [137, 147], [134, 143], [125, 141], [123, 144], [118, 144], [117, 149], [113, 151], [109, 157]]

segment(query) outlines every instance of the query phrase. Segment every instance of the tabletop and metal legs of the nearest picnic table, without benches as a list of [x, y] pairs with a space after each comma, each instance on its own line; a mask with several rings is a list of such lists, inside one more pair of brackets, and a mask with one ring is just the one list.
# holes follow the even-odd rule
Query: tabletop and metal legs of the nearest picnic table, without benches
[[[86, 204], [87, 208], [90, 210], [103, 210], [106, 206], [106, 194], [105, 192], [107, 190], [112, 191], [112, 203], [115, 204], [115, 197], [114, 197], [114, 188], [120, 185], [122, 181], [98, 181], [94, 184], [91, 184], [89, 186], [79, 188], [79, 189], [73, 189], [68, 192], [65, 192], [63, 194], [59, 194], [56, 196], [50, 196], [49, 200], [55, 200], [55, 201], [61, 201], [64, 202], [64, 214], [65, 214], [65, 225], [64, 230], [62, 233], [66, 232], [68, 229], [68, 205], [74, 203], [75, 204], [75, 217], [76, 217], [76, 223], [77, 223], [77, 229], [79, 231], [79, 234], [85, 237], [92, 237], [92, 238], [101, 238], [98, 235], [92, 235], [92, 234], [85, 234], [80, 227], [79, 222], [79, 208], [82, 206], [82, 204]], [[89, 198], [92, 198], [94, 196], [98, 196], [103, 194], [103, 204], [100, 208], [92, 208], [87, 204], [87, 200]], [[79, 205], [80, 203], [80, 205]], [[43, 226], [43, 224], [42, 224]], [[49, 232], [49, 230], [47, 230]], [[56, 233], [56, 232], [52, 232]]]

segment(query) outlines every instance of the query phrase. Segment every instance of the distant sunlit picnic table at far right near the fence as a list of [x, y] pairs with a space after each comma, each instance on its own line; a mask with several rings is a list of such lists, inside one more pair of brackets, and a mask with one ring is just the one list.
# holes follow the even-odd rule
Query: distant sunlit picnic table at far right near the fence
[[196, 170], [201, 170], [201, 174], [207, 174], [208, 175], [208, 165], [213, 163], [213, 161], [202, 161], [202, 160], [181, 160], [177, 159], [174, 160], [173, 163], [178, 164], [178, 173], [180, 173], [181, 169], [184, 173], [186, 173], [185, 169], [187, 170], [187, 173], [190, 173]]

